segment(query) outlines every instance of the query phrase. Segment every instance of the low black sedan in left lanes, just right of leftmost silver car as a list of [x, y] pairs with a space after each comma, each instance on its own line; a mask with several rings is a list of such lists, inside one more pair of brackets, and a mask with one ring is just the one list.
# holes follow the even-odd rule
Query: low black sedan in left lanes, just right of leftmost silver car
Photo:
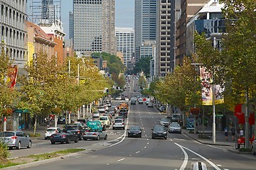
[[78, 135], [73, 134], [72, 132], [60, 132], [60, 133], [54, 133], [53, 135], [50, 135], [50, 143], [52, 145], [55, 144], [55, 142], [60, 143], [70, 143], [70, 142], [78, 142]]

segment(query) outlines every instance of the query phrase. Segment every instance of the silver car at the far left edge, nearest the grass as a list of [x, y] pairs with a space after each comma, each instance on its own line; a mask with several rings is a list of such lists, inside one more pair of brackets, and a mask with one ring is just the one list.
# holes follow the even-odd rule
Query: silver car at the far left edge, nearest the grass
[[13, 147], [16, 147], [16, 149], [21, 149], [21, 147], [31, 148], [32, 145], [31, 138], [22, 131], [0, 132], [0, 140], [10, 149]]

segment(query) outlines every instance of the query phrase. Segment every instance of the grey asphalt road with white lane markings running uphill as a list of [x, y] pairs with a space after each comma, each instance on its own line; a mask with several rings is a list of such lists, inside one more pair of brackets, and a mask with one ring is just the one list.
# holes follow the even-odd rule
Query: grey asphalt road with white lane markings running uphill
[[[35, 152], [36, 149], [64, 149], [64, 147], [84, 147], [87, 152], [70, 157], [55, 159], [55, 162], [38, 162], [23, 169], [192, 169], [195, 162], [203, 162], [208, 169], [249, 170], [255, 169], [256, 158], [252, 155], [228, 152], [225, 147], [203, 145], [183, 134], [168, 134], [168, 139], [151, 139], [151, 128], [159, 125], [160, 115], [155, 108], [143, 105], [130, 106], [127, 126], [140, 125], [144, 128], [142, 138], [126, 137], [126, 130], [108, 130], [107, 141], [80, 141], [78, 144], [50, 145], [41, 143], [33, 149], [22, 151]], [[125, 134], [122, 136], [122, 134]], [[112, 136], [112, 137], [111, 137]], [[118, 138], [117, 140], [114, 140]], [[17, 152], [20, 152], [17, 151]], [[22, 168], [21, 168], [22, 169]]]

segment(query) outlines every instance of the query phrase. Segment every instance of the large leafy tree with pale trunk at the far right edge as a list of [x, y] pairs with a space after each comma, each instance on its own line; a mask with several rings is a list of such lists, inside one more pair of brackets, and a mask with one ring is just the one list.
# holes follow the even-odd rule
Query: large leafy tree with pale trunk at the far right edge
[[[223, 35], [221, 62], [228, 81], [228, 90], [235, 101], [244, 98], [254, 107], [256, 91], [256, 1], [220, 0], [224, 4], [226, 34]], [[247, 110], [246, 113], [249, 114]], [[254, 110], [256, 113], [256, 110]], [[248, 117], [245, 120], [245, 147], [250, 147]], [[256, 130], [256, 128], [255, 128]]]

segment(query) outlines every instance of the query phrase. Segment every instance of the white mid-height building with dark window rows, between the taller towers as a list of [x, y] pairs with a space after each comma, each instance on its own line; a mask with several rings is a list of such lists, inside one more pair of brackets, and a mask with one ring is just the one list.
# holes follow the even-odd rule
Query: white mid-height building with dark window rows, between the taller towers
[[133, 28], [116, 28], [115, 35], [117, 38], [117, 52], [122, 52], [124, 65], [132, 60], [134, 53], [134, 29]]

